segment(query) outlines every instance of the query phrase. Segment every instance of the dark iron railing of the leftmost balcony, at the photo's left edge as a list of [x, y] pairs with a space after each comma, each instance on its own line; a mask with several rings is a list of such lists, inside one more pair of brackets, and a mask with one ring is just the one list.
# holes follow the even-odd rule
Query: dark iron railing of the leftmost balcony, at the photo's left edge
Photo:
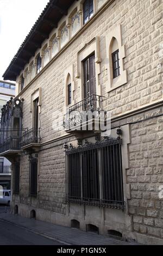
[[20, 138], [10, 137], [0, 143], [0, 153], [8, 150], [20, 150]]

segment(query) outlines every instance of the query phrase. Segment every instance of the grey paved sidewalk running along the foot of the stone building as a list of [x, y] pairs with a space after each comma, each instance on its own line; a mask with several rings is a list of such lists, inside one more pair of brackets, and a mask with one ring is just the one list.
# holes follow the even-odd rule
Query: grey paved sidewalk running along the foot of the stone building
[[103, 235], [42, 221], [35, 221], [30, 218], [24, 218], [9, 213], [0, 213], [0, 220], [12, 223], [49, 239], [57, 240], [61, 242], [62, 245], [137, 245], [137, 243], [134, 242], [125, 242], [112, 237], [105, 237]]

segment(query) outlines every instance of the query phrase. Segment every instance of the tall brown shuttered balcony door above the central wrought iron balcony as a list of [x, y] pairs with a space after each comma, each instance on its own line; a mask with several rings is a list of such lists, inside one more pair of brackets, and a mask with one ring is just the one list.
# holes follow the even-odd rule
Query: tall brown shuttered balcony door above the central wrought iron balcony
[[96, 94], [95, 54], [84, 60], [84, 98]]

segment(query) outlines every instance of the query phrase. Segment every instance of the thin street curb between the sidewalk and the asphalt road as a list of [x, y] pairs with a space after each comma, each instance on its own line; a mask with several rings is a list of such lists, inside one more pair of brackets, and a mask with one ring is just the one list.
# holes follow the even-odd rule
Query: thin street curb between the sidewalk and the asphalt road
[[23, 229], [25, 229], [25, 230], [27, 230], [27, 231], [29, 231], [29, 232], [32, 232], [32, 233], [34, 233], [34, 234], [36, 234], [36, 235], [41, 235], [41, 236], [43, 236], [43, 237], [46, 237], [47, 239], [60, 242], [60, 243], [62, 243], [63, 245], [73, 245], [73, 244], [71, 244], [71, 243], [67, 243], [66, 241], [62, 241], [62, 240], [58, 239], [57, 237], [49, 236], [49, 235], [46, 235], [45, 233], [39, 233], [39, 232], [37, 232], [37, 231], [35, 231], [35, 230], [33, 230], [33, 229], [26, 228], [26, 227], [24, 227], [24, 226], [21, 225], [21, 224], [16, 224], [16, 223], [14, 223], [14, 222], [7, 221], [7, 220], [5, 220], [5, 219], [3, 219], [3, 218], [0, 218], [0, 221], [7, 222], [7, 223], [9, 223], [9, 224], [15, 225], [16, 227], [21, 227], [21, 228], [23, 228]]

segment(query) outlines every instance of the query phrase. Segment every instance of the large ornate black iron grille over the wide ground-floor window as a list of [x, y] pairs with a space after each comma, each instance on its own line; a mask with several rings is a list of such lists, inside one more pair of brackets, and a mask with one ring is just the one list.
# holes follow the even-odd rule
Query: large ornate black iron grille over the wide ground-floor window
[[120, 138], [66, 149], [67, 202], [124, 208]]

